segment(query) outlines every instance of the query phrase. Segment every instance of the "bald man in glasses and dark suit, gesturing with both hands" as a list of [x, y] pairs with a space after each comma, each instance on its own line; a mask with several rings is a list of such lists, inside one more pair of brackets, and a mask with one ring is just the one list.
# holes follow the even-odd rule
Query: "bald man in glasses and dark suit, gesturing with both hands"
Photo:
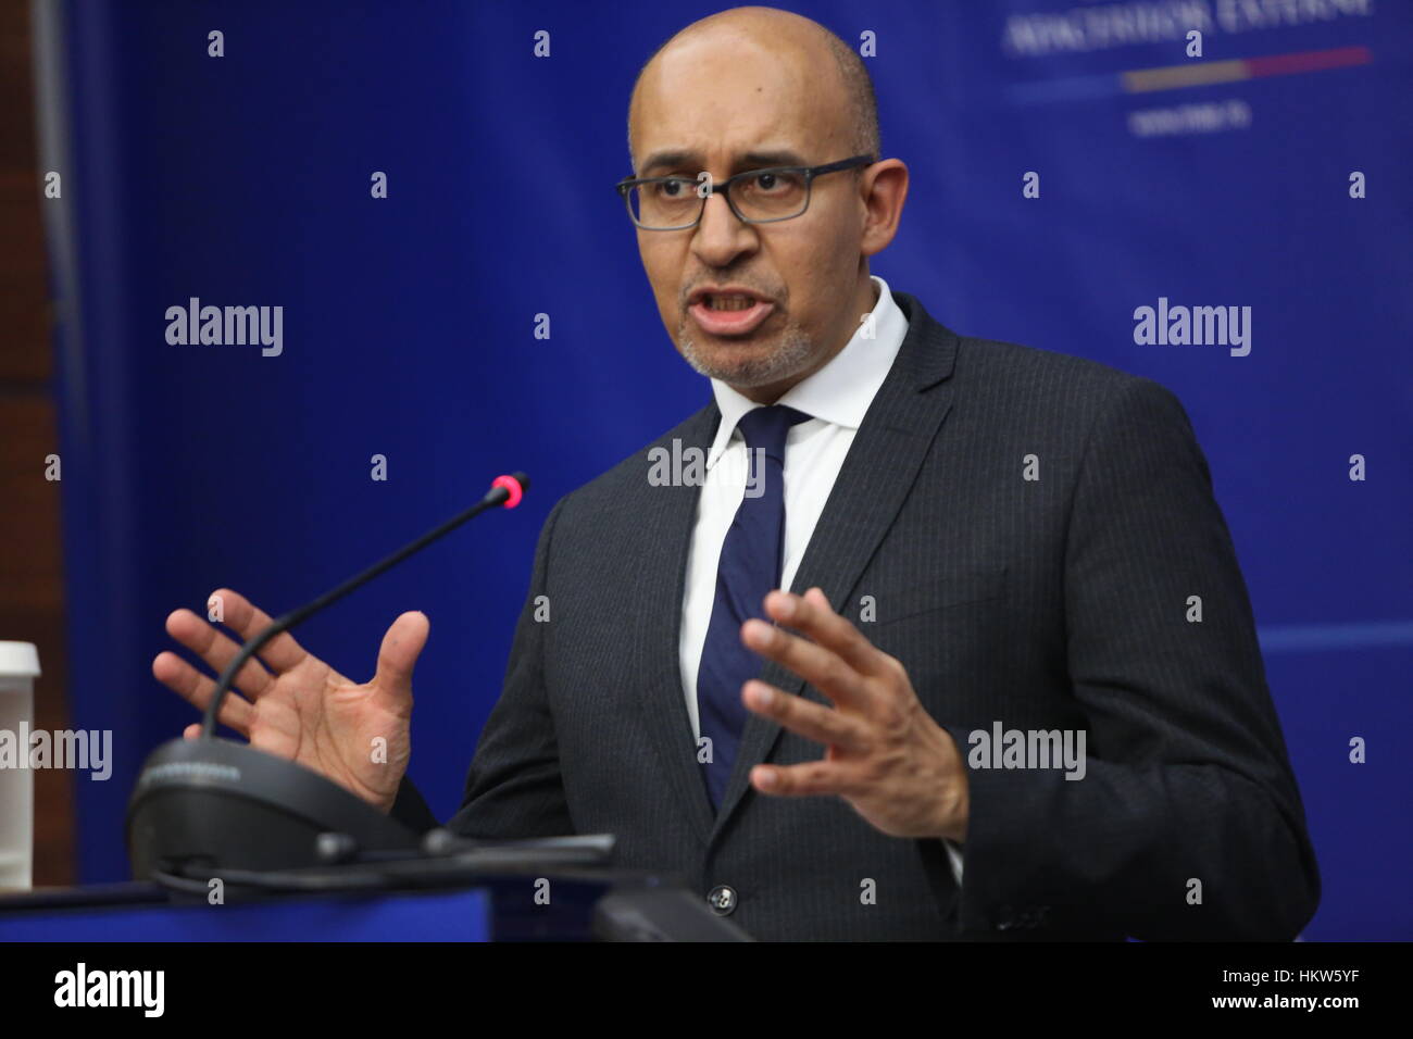
[[[682, 30], [629, 137], [619, 191], [714, 399], [555, 505], [448, 826], [613, 833], [763, 939], [1297, 934], [1318, 874], [1176, 397], [870, 276], [909, 171], [812, 21]], [[218, 594], [242, 638], [267, 622]], [[363, 686], [284, 635], [222, 721], [432, 826], [404, 782], [427, 635], [400, 616]], [[175, 654], [154, 673], [208, 703]]]

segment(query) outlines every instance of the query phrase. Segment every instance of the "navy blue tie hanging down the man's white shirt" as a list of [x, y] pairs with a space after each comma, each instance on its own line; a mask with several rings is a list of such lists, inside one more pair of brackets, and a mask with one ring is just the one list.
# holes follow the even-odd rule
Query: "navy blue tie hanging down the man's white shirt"
[[786, 434], [810, 416], [773, 404], [747, 411], [736, 423], [746, 440], [749, 475], [736, 519], [726, 532], [716, 564], [716, 601], [711, 611], [701, 667], [697, 711], [701, 734], [711, 739], [702, 762], [706, 794], [719, 807], [746, 725], [740, 687], [760, 674], [763, 662], [740, 643], [740, 625], [766, 618], [763, 599], [779, 587], [786, 537]]

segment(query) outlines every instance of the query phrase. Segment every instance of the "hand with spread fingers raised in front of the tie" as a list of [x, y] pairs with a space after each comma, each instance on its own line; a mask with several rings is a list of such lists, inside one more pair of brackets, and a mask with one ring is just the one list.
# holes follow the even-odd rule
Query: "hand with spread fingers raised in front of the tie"
[[821, 761], [757, 765], [750, 783], [767, 794], [836, 794], [893, 837], [966, 840], [968, 786], [957, 741], [913, 691], [907, 670], [829, 606], [818, 588], [773, 591], [764, 621], [740, 626], [742, 642], [790, 669], [834, 703], [791, 695], [763, 681], [742, 687], [747, 710], [825, 745]]

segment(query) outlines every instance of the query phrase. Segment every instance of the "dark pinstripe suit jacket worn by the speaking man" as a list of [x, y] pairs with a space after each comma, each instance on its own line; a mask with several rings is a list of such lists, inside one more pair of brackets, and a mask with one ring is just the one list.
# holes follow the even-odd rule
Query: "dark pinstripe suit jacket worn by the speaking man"
[[[873, 597], [862, 630], [964, 755], [998, 721], [1084, 729], [1084, 779], [971, 768], [961, 891], [940, 841], [886, 837], [839, 799], [747, 789], [752, 765], [822, 749], [756, 715], [714, 816], [677, 639], [698, 488], [647, 479], [651, 447], [709, 447], [712, 403], [554, 507], [448, 826], [613, 833], [623, 865], [704, 895], [731, 885], [732, 920], [760, 939], [1293, 937], [1318, 872], [1181, 404], [1094, 362], [958, 336], [894, 298], [907, 338], [794, 588], [820, 585], [853, 619]], [[1027, 455], [1039, 479], [1023, 478]], [[763, 677], [828, 703], [776, 664]]]

